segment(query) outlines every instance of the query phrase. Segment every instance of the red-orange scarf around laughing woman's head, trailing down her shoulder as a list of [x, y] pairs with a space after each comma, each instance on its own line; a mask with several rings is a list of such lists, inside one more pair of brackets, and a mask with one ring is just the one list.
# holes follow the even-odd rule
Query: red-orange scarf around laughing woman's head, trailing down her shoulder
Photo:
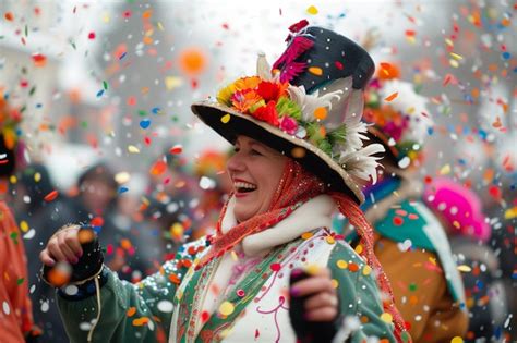
[[[337, 192], [327, 192], [323, 182], [312, 173], [305, 171], [304, 168], [292, 159], [288, 159], [288, 162], [286, 163], [284, 174], [280, 179], [277, 191], [273, 196], [272, 205], [267, 212], [254, 216], [238, 223], [227, 233], [223, 233], [221, 223], [229, 200], [225, 204], [217, 222], [216, 235], [211, 238], [211, 248], [208, 253], [202, 257], [196, 269], [205, 266], [214, 258], [223, 256], [226, 252], [231, 250], [248, 235], [258, 233], [276, 225], [301, 205], [305, 204], [313, 197], [325, 193], [332, 196], [334, 201], [337, 204], [339, 211], [348, 218], [361, 237], [361, 244], [364, 247], [361, 256], [374, 270], [381, 292], [388, 295], [388, 302], [383, 302], [384, 310], [393, 316], [395, 335], [400, 342], [401, 332], [406, 331], [404, 320], [398, 309], [395, 307], [389, 280], [384, 273], [384, 270], [374, 254], [373, 229], [364, 218], [364, 213], [356, 201], [353, 201], [348, 195]], [[231, 196], [229, 198], [231, 198]]]

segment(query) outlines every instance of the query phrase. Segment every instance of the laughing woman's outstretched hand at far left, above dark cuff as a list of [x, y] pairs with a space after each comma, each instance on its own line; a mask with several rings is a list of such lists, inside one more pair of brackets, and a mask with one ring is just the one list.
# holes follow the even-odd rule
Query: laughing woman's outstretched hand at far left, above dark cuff
[[79, 231], [79, 225], [70, 225], [55, 233], [39, 254], [41, 262], [49, 267], [58, 261], [75, 265], [83, 255]]

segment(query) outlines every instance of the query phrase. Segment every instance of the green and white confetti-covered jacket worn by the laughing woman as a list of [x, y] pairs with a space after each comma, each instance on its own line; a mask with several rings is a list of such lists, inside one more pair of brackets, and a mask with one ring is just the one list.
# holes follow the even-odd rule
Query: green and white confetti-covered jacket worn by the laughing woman
[[[369, 268], [348, 244], [329, 237], [326, 230], [318, 230], [308, 240], [299, 238], [274, 248], [258, 265], [261, 273], [251, 272], [237, 284], [236, 289], [242, 289], [247, 296], [240, 298], [232, 292], [226, 298], [235, 304], [233, 313], [226, 317], [214, 314], [203, 319], [204, 324], [197, 332], [192, 326], [202, 320], [202, 314], [196, 311], [199, 304], [195, 299], [200, 292], [207, 292], [205, 286], [199, 285], [211, 280], [211, 268], [217, 265], [216, 259], [216, 265], [208, 264], [199, 270], [191, 267], [203, 254], [204, 238], [183, 246], [158, 273], [137, 284], [120, 281], [106, 268], [107, 281], [100, 289], [100, 319], [93, 331], [93, 342], [167, 342], [169, 335], [171, 342], [203, 342], [207, 336], [211, 342], [242, 342], [243, 339], [248, 342], [272, 342], [275, 339], [294, 342], [296, 336], [288, 324], [287, 306], [278, 307], [275, 316], [258, 313], [258, 309], [270, 308], [281, 301], [288, 287], [289, 278], [286, 275], [292, 265], [300, 264], [325, 265], [332, 270], [344, 322], [356, 319], [360, 323], [350, 333], [348, 331], [353, 326], [344, 326], [340, 332], [344, 338], [348, 335], [352, 342], [363, 342], [368, 336], [376, 336], [395, 342], [393, 324], [381, 319], [383, 309], [378, 289]], [[308, 250], [312, 250], [311, 254], [306, 254]], [[278, 262], [280, 269], [269, 268], [273, 262]], [[177, 292], [180, 283], [181, 292]], [[268, 294], [264, 293], [265, 285]], [[97, 316], [97, 296], [73, 301], [59, 295], [58, 303], [70, 340], [86, 342], [92, 320]], [[268, 324], [273, 320], [280, 323], [278, 330]]]

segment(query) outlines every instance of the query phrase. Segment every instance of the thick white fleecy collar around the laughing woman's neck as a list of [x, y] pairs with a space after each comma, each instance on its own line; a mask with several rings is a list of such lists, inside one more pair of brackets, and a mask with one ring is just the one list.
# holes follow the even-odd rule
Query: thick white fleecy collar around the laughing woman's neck
[[[225, 218], [221, 223], [221, 231], [228, 232], [237, 224], [233, 208], [236, 198], [228, 203]], [[304, 232], [317, 228], [332, 228], [332, 213], [336, 210], [336, 204], [328, 195], [316, 196], [298, 209], [289, 217], [277, 223], [275, 226], [262, 232], [247, 236], [242, 240], [242, 250], [247, 256], [254, 256], [267, 252], [268, 249], [298, 238]]]

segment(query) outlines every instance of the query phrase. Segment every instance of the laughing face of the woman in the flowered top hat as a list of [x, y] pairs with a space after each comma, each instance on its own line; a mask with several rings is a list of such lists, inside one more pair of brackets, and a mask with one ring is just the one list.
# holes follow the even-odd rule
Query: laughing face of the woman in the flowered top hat
[[227, 168], [236, 192], [235, 215], [239, 222], [269, 209], [287, 159], [257, 140], [237, 138], [236, 154]]

